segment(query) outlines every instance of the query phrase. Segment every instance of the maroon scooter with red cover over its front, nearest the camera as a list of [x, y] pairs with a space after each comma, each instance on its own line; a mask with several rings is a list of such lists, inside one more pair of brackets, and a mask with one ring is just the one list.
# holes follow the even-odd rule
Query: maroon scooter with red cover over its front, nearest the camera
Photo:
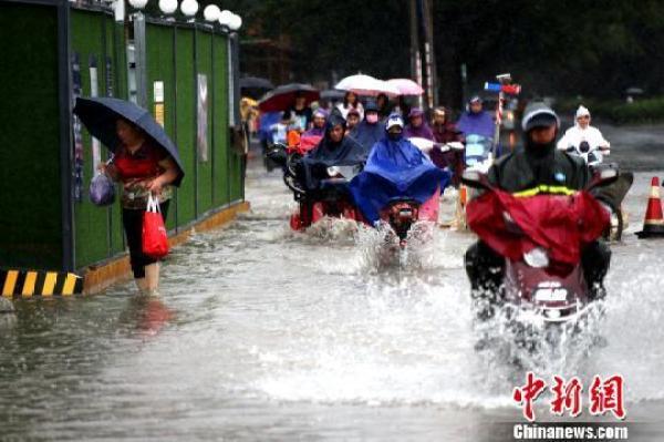
[[480, 188], [467, 206], [468, 225], [505, 257], [501, 302], [512, 318], [562, 323], [582, 317], [592, 296], [581, 266], [582, 248], [602, 236], [609, 213], [590, 194], [618, 179], [615, 168], [598, 169], [589, 187], [563, 195], [517, 197], [467, 169], [461, 182]]

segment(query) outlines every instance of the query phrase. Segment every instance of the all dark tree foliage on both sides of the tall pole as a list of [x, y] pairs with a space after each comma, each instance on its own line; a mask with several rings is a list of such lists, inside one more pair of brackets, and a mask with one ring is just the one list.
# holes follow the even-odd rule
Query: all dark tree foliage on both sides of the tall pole
[[[511, 72], [537, 94], [620, 96], [631, 85], [663, 92], [661, 0], [435, 0], [433, 4], [445, 101], [458, 102], [461, 63], [475, 88], [496, 73]], [[383, 78], [409, 74], [407, 0], [228, 0], [222, 7], [240, 13], [262, 37], [287, 35], [297, 51], [299, 79], [329, 80], [332, 71]]]

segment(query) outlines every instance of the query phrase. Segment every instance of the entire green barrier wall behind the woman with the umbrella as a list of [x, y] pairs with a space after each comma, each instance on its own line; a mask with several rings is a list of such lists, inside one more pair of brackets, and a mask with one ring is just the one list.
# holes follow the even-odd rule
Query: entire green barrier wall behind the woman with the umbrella
[[[62, 31], [69, 31], [72, 60], [68, 62], [76, 61], [79, 66], [72, 74], [72, 94], [127, 99], [127, 25], [116, 23], [110, 11], [71, 6], [69, 29]], [[241, 198], [240, 158], [229, 151], [228, 40], [208, 27], [159, 20], [148, 21], [145, 32], [148, 107], [178, 145], [186, 173], [167, 219], [167, 227], [177, 229]], [[100, 143], [96, 151], [83, 126], [80, 138], [73, 131], [72, 146], [60, 145], [60, 119], [66, 110], [59, 103], [58, 9], [0, 2], [0, 38], [2, 64], [11, 66], [0, 70], [0, 116], [11, 129], [0, 132], [4, 166], [0, 266], [58, 269], [66, 265], [62, 261], [63, 150], [71, 150], [79, 161], [80, 168], [71, 167], [82, 178], [77, 185], [74, 179], [72, 188], [79, 196], [73, 202], [74, 267], [123, 253], [120, 204], [96, 207], [87, 195], [96, 173], [95, 155], [106, 161], [108, 150]], [[157, 84], [163, 96], [156, 96]], [[205, 95], [205, 105], [199, 105], [199, 94]]]

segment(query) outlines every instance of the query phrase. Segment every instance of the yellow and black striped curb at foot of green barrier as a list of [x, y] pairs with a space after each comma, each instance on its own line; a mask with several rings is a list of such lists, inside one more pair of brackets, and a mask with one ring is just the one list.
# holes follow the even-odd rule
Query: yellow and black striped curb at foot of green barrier
[[71, 296], [83, 291], [83, 278], [65, 271], [0, 269], [0, 289], [6, 298]]

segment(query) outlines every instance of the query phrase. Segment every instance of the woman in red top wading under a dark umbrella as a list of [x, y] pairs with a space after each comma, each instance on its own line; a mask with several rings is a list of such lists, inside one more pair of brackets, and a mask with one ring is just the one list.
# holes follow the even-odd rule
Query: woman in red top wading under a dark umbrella
[[143, 253], [143, 214], [151, 195], [166, 219], [172, 185], [179, 186], [184, 172], [177, 147], [147, 111], [116, 99], [77, 99], [74, 113], [92, 135], [115, 156], [100, 169], [123, 184], [122, 222], [129, 246], [136, 286], [155, 294], [159, 286], [158, 259]]

